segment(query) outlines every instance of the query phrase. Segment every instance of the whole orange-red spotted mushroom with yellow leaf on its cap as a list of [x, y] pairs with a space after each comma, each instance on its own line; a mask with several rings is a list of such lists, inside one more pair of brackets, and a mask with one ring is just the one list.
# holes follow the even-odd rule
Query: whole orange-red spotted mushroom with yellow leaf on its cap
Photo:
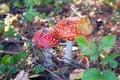
[[[85, 36], [85, 37], [89, 36], [89, 34], [84, 34], [83, 31], [81, 33], [81, 30], [80, 30], [81, 27], [79, 27], [80, 22], [82, 22], [81, 20], [84, 20], [84, 19], [77, 18], [77, 17], [66, 18], [59, 21], [55, 26], [55, 30], [58, 36], [61, 37], [62, 39], [69, 41], [66, 46], [66, 52], [64, 56], [65, 63], [70, 63], [70, 60], [72, 60], [72, 45], [75, 38], [77, 36]], [[86, 29], [87, 28], [85, 26], [83, 30], [86, 31]]]

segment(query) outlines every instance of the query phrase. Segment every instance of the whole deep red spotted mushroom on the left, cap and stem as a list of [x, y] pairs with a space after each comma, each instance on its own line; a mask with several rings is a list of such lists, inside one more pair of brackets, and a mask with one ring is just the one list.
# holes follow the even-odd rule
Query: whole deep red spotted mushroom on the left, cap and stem
[[45, 51], [45, 63], [47, 68], [53, 67], [51, 48], [59, 44], [59, 37], [52, 29], [42, 29], [35, 33], [33, 43]]

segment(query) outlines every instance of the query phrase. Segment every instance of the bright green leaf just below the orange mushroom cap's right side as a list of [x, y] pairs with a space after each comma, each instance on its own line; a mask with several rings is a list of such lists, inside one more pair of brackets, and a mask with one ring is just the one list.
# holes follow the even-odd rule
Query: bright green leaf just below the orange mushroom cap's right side
[[76, 41], [78, 42], [78, 46], [80, 48], [89, 48], [90, 47], [87, 39], [84, 36], [77, 37]]

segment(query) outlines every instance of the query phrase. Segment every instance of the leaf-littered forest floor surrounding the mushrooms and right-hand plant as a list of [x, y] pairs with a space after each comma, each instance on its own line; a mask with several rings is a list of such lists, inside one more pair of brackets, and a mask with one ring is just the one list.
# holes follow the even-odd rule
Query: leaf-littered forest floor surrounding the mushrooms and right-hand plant
[[[0, 9], [0, 80], [80, 80], [80, 76], [76, 75], [81, 75], [86, 68], [102, 70], [101, 59], [93, 62], [88, 56], [81, 55], [76, 42], [73, 43], [72, 63], [66, 64], [64, 54], [67, 41], [63, 39], [53, 48], [52, 61], [55, 68], [47, 68], [43, 65], [44, 51], [33, 45], [32, 38], [35, 32], [42, 28], [54, 28], [63, 18], [86, 15], [94, 26], [90, 38], [101, 39], [115, 35], [116, 42], [109, 54], [120, 54], [120, 0], [115, 1], [112, 5], [99, 0], [50, 0], [49, 3], [43, 1], [40, 5], [37, 5], [36, 1], [34, 7], [32, 6], [35, 11], [30, 11], [31, 3], [25, 5], [24, 0], [1, 0], [0, 8], [5, 4], [7, 11], [5, 6]], [[25, 59], [16, 55], [19, 53], [25, 53], [22, 55]], [[18, 62], [11, 67], [9, 58], [14, 55]], [[80, 63], [83, 57], [85, 60]], [[111, 68], [108, 64], [104, 69], [110, 69], [120, 79], [120, 56], [115, 60], [118, 64], [116, 68]], [[2, 67], [3, 63], [7, 65]]]

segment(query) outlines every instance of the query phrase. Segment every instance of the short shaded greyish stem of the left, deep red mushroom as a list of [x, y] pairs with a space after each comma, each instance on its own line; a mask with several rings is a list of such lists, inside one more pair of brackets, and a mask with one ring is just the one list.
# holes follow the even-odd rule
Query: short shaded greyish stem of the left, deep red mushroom
[[51, 65], [52, 64], [52, 49], [51, 48], [47, 48], [45, 49], [45, 62], [47, 63], [47, 65]]

